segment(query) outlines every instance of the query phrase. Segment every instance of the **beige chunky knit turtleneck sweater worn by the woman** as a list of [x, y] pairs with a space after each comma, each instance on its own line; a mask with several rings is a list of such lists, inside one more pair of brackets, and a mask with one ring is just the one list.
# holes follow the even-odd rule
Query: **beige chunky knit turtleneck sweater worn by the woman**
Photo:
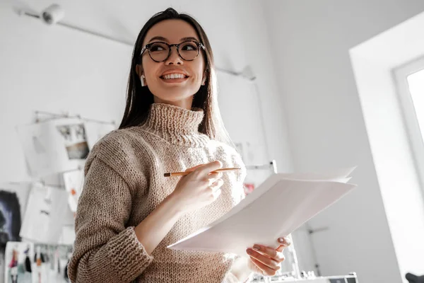
[[[198, 131], [204, 112], [154, 103], [143, 125], [118, 129], [90, 152], [78, 202], [76, 241], [69, 263], [71, 282], [229, 282], [235, 256], [170, 250], [166, 247], [210, 224], [243, 197], [245, 166], [231, 146]], [[222, 194], [212, 204], [185, 214], [152, 255], [137, 240], [134, 226], [162, 202], [179, 180], [163, 173], [220, 160]]]

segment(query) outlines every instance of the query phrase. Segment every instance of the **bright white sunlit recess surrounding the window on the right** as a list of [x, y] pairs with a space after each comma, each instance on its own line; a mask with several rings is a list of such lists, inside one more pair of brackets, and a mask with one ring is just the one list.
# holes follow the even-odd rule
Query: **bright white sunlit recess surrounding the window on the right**
[[419, 153], [408, 141], [393, 70], [423, 56], [423, 26], [420, 13], [350, 52], [399, 269], [417, 275], [424, 274], [424, 199], [413, 158]]

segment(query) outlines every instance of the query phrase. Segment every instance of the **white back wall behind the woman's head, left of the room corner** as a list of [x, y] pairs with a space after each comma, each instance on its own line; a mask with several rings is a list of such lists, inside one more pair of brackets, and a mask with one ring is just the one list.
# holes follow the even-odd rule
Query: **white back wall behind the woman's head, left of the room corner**
[[[291, 171], [285, 115], [270, 72], [273, 58], [269, 44], [264, 44], [269, 38], [263, 33], [266, 23], [259, 1], [56, 2], [66, 11], [64, 21], [128, 41], [135, 40], [153, 13], [168, 6], [191, 13], [211, 40], [217, 66], [234, 71], [252, 66], [263, 101], [270, 158], [276, 159], [280, 171]], [[0, 6], [0, 132], [6, 137], [0, 140], [4, 160], [0, 183], [28, 180], [14, 127], [32, 122], [35, 110], [70, 112], [119, 124], [132, 51], [119, 43], [19, 17], [12, 3]], [[28, 1], [25, 6], [41, 11], [49, 4]]]

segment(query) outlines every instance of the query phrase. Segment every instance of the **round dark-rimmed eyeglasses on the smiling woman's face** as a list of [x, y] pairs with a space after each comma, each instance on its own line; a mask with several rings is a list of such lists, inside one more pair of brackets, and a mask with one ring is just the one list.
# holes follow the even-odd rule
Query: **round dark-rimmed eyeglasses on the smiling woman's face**
[[177, 47], [179, 57], [185, 61], [193, 61], [199, 56], [200, 49], [205, 50], [205, 46], [201, 42], [187, 40], [178, 44], [167, 44], [166, 42], [156, 41], [146, 44], [141, 50], [140, 57], [148, 50], [148, 54], [155, 62], [164, 62], [170, 57], [171, 47]]

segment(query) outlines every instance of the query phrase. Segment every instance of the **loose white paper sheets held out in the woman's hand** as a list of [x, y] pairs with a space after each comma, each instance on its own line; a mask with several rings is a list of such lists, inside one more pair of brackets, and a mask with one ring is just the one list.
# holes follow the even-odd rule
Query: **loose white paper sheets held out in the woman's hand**
[[254, 243], [277, 247], [278, 237], [292, 233], [356, 186], [344, 183], [351, 171], [272, 175], [228, 214], [168, 248], [245, 255]]

